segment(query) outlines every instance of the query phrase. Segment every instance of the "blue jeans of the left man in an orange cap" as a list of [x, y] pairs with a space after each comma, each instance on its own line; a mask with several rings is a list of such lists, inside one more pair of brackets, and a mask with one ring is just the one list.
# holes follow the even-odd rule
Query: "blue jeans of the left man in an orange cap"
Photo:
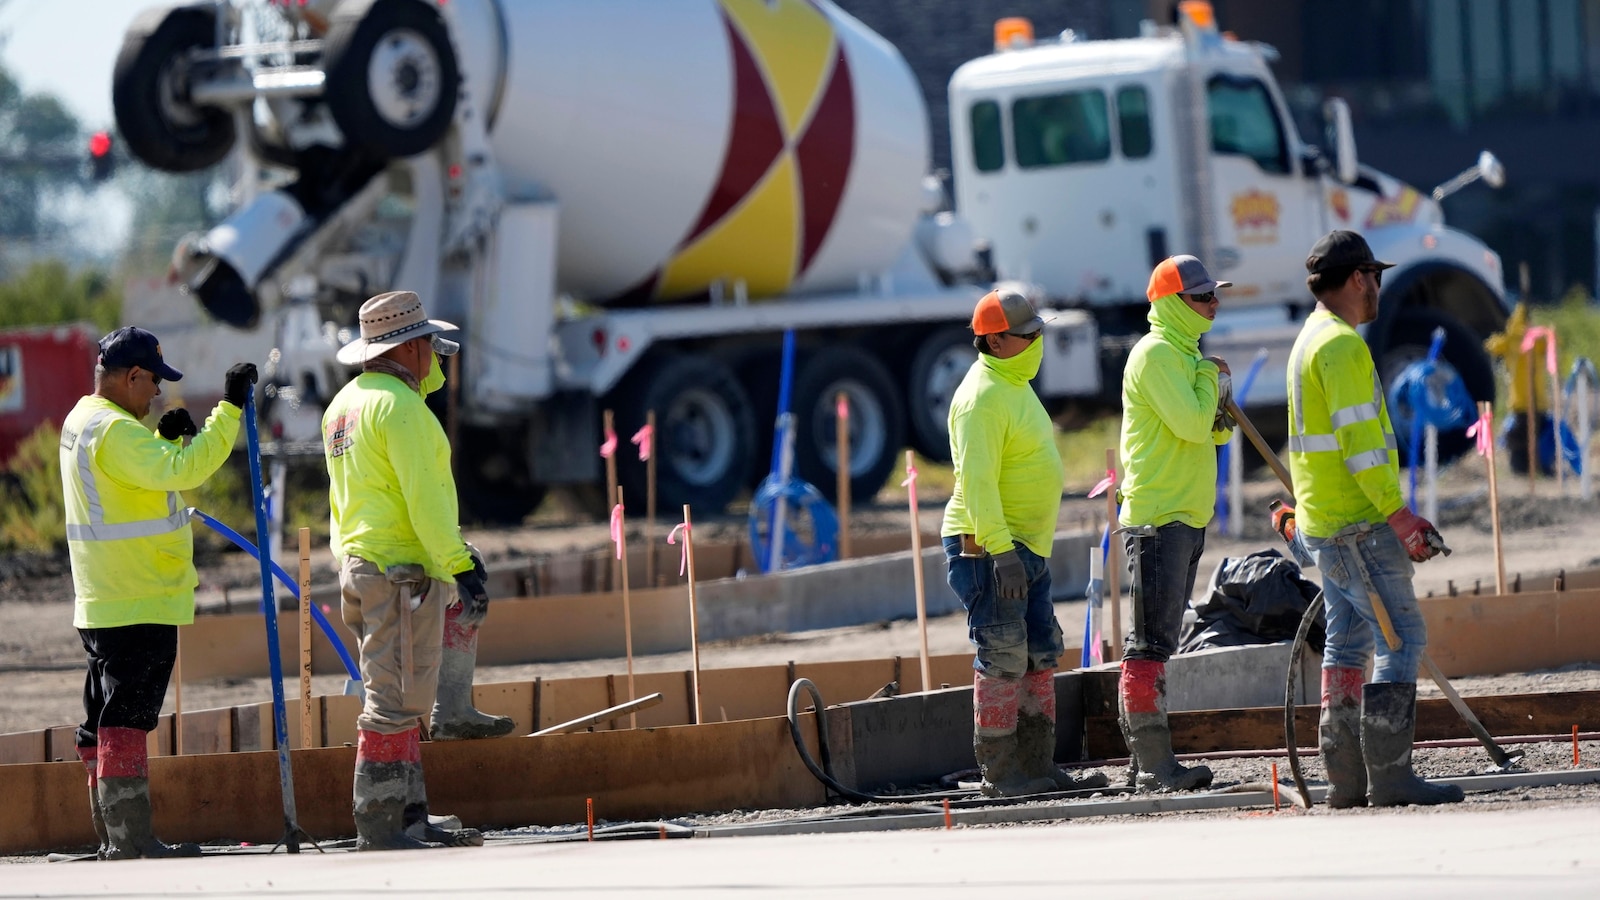
[[978, 647], [973, 668], [1000, 677], [1022, 677], [1056, 668], [1061, 658], [1061, 625], [1050, 601], [1050, 560], [1016, 544], [1027, 573], [1027, 597], [1000, 597], [990, 557], [962, 557], [962, 538], [944, 538], [944, 564], [950, 589], [966, 609], [966, 637]]

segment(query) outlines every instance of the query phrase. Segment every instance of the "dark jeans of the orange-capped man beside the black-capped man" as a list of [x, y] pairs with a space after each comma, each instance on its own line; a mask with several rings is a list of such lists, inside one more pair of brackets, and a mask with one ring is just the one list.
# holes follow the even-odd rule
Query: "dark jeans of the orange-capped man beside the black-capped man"
[[[1165, 663], [1178, 652], [1178, 633], [1184, 626], [1184, 610], [1195, 589], [1195, 572], [1205, 552], [1205, 528], [1168, 522], [1155, 528], [1155, 536], [1136, 538], [1123, 533], [1122, 548], [1128, 556], [1128, 572], [1139, 591], [1134, 621], [1122, 644], [1125, 660]], [[1138, 617], [1142, 612], [1142, 621]]]

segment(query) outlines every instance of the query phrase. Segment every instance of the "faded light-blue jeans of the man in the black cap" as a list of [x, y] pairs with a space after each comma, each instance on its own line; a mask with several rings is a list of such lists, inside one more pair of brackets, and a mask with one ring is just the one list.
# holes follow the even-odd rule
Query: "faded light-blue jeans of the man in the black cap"
[[[1376, 649], [1374, 682], [1414, 682], [1418, 661], [1427, 647], [1427, 623], [1411, 589], [1411, 559], [1394, 528], [1386, 524], [1352, 525], [1331, 538], [1307, 535], [1306, 546], [1322, 570], [1323, 610], [1328, 615], [1322, 668], [1365, 668]], [[1384, 641], [1357, 560], [1366, 567], [1373, 589], [1382, 597], [1400, 637], [1398, 650], [1390, 650]]]

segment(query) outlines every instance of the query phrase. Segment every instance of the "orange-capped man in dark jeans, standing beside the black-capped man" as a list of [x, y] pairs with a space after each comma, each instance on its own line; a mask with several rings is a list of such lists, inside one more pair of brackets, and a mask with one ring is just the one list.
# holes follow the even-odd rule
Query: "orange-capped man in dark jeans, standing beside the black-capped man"
[[1216, 319], [1216, 290], [1234, 287], [1194, 256], [1171, 256], [1150, 272], [1150, 331], [1122, 376], [1122, 511], [1133, 573], [1133, 628], [1123, 641], [1118, 719], [1128, 741], [1130, 783], [1141, 791], [1187, 791], [1211, 783], [1205, 765], [1173, 756], [1166, 721], [1166, 661], [1178, 652], [1184, 609], [1205, 551], [1216, 503], [1216, 445], [1232, 420], [1227, 364], [1200, 356]]

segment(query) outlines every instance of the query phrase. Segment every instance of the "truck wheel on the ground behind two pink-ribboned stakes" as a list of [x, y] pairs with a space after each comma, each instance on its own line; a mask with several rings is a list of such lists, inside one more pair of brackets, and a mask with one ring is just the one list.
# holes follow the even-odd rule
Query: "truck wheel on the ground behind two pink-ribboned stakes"
[[648, 484], [629, 439], [650, 410], [656, 410], [656, 509], [669, 517], [683, 504], [722, 512], [744, 488], [755, 458], [755, 416], [744, 388], [720, 360], [656, 357], [613, 392], [611, 408], [618, 480], [635, 514], [643, 514]]

